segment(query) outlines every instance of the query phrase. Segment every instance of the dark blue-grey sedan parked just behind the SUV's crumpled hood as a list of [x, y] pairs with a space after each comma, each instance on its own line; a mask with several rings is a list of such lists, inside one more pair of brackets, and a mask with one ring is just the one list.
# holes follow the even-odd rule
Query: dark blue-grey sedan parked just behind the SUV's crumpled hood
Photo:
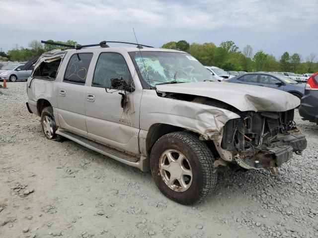
[[288, 77], [273, 73], [245, 73], [225, 80], [230, 83], [242, 83], [269, 87], [293, 94], [301, 99], [305, 92], [305, 84], [298, 83]]

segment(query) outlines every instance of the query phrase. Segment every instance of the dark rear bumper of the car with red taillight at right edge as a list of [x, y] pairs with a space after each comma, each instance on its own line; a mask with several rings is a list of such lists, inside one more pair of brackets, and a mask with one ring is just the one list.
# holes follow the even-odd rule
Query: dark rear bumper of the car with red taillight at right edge
[[299, 107], [299, 115], [306, 120], [318, 123], [318, 91], [306, 90]]

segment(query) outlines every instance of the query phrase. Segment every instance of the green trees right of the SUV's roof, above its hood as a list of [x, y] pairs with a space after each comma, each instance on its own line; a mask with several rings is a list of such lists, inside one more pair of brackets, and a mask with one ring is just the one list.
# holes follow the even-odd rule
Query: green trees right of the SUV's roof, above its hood
[[268, 71], [268, 72], [295, 72], [295, 73], [314, 73], [318, 71], [318, 62], [315, 54], [311, 54], [306, 60], [298, 53], [289, 54], [285, 52], [280, 59], [258, 51], [253, 54], [250, 45], [239, 51], [239, 47], [233, 41], [224, 41], [217, 47], [214, 43], [192, 43], [181, 40], [165, 43], [161, 48], [178, 49], [188, 52], [203, 65], [213, 65], [224, 70], [235, 71]]

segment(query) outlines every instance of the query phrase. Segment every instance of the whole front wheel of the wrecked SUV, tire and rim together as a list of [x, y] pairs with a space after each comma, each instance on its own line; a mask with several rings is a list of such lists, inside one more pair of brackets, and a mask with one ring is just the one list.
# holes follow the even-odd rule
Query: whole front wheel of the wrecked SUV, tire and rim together
[[186, 132], [163, 135], [150, 156], [152, 176], [159, 190], [184, 205], [202, 201], [214, 189], [217, 174], [208, 146]]

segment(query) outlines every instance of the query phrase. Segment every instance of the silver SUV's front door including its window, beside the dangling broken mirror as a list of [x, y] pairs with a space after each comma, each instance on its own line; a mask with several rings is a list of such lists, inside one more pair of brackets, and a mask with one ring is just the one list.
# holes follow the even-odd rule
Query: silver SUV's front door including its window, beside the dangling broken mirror
[[[139, 155], [139, 108], [141, 94], [111, 89], [111, 79], [133, 84], [124, 57], [101, 53], [85, 95], [87, 136], [116, 149]], [[123, 95], [126, 103], [121, 104]], [[123, 106], [123, 107], [122, 107]]]

